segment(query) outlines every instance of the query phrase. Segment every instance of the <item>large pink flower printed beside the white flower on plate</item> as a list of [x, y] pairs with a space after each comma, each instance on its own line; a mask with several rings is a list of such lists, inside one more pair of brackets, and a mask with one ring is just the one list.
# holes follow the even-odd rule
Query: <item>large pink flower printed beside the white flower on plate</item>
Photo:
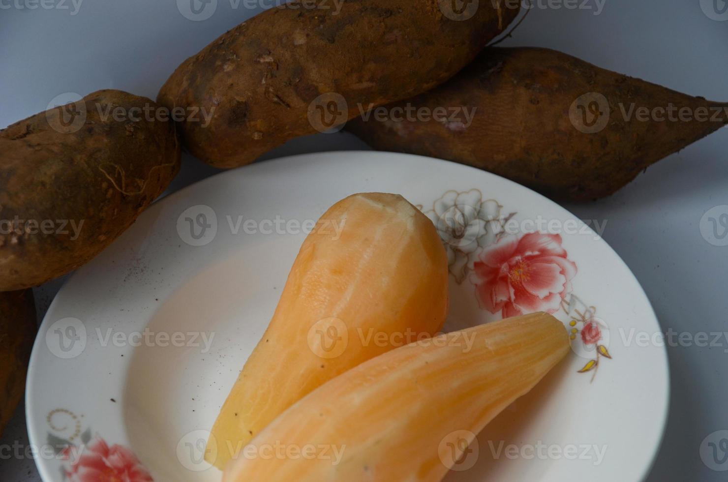
[[557, 312], [577, 274], [561, 236], [542, 233], [502, 237], [483, 248], [472, 269], [480, 307], [504, 318]]

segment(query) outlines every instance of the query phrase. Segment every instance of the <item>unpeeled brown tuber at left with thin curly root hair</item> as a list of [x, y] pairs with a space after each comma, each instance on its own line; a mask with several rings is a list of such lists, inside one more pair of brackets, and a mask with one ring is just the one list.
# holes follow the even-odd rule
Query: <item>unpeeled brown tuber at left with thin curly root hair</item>
[[[129, 111], [156, 106], [152, 100], [100, 90], [78, 105], [85, 105], [86, 119], [75, 133], [54, 129], [64, 115], [61, 108], [0, 130], [0, 291], [39, 285], [89, 261], [179, 170], [172, 123], [149, 122]], [[65, 108], [79, 111], [76, 107]], [[138, 120], [103, 119], [108, 107], [121, 107]], [[19, 224], [15, 216], [37, 225]], [[79, 226], [78, 237], [71, 221]]]

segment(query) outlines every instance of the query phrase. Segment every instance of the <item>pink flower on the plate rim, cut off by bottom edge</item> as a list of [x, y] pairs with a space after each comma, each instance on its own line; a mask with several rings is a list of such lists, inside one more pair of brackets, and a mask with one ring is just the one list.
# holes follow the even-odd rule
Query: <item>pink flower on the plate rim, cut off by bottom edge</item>
[[81, 456], [66, 470], [71, 482], [154, 481], [132, 451], [120, 445], [109, 447], [98, 435], [81, 449]]

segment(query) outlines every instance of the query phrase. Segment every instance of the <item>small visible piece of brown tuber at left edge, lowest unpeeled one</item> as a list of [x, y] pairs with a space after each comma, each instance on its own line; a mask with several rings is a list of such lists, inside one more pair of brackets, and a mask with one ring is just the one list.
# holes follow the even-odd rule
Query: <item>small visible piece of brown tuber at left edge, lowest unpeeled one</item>
[[0, 293], [0, 434], [23, 399], [37, 330], [33, 291]]

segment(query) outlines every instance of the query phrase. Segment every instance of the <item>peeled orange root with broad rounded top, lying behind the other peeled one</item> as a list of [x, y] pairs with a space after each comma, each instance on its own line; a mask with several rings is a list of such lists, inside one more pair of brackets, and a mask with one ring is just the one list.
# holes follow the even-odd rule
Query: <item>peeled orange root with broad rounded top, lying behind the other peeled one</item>
[[437, 333], [447, 308], [447, 256], [424, 214], [396, 194], [337, 202], [306, 237], [273, 319], [215, 422], [205, 459], [223, 468], [321, 384]]

